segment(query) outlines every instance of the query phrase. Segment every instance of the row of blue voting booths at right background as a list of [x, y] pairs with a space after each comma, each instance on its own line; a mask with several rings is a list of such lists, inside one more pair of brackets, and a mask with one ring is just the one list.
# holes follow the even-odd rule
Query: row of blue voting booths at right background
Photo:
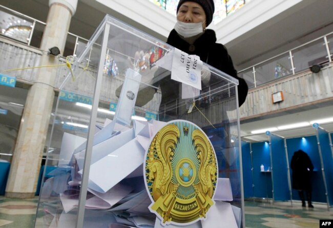
[[[268, 134], [267, 138], [265, 142], [242, 142], [244, 197], [300, 200], [297, 190], [292, 189], [290, 161], [294, 152], [303, 150], [314, 165], [312, 199], [330, 207], [333, 203], [332, 133], [317, 128], [316, 135], [312, 136], [283, 138]], [[264, 171], [260, 170], [261, 165]]]

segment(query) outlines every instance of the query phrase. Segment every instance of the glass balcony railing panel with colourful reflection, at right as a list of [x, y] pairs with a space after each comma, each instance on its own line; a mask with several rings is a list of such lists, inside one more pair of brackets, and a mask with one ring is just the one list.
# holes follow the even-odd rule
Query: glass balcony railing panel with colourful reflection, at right
[[256, 85], [293, 74], [289, 54], [278, 56], [255, 67]]

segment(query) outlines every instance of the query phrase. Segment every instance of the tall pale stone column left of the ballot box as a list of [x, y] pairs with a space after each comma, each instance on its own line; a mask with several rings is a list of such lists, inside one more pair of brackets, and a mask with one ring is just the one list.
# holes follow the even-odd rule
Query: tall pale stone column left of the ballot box
[[[40, 66], [58, 64], [58, 58], [48, 52], [50, 48], [57, 47], [60, 53], [64, 53], [76, 5], [77, 0], [49, 1], [47, 25], [40, 45], [40, 49], [44, 51]], [[11, 162], [6, 197], [32, 198], [35, 195], [52, 111], [56, 76], [56, 68], [40, 68], [36, 82], [29, 89]]]

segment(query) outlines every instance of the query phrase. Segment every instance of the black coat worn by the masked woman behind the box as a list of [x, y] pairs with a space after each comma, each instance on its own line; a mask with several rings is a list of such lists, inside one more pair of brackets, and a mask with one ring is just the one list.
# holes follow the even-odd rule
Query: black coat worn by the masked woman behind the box
[[[234, 68], [233, 61], [230, 55], [228, 55], [226, 48], [223, 45], [216, 43], [216, 35], [213, 30], [206, 29], [204, 34], [196, 39], [193, 45], [190, 45], [173, 29], [170, 32], [166, 43], [190, 55], [198, 55], [200, 60], [208, 65], [237, 78], [239, 80], [239, 106], [244, 103], [248, 91], [247, 84], [243, 78], [239, 78], [237, 76], [237, 71]], [[211, 78], [210, 84], [214, 83], [212, 80], [214, 80], [213, 77]], [[178, 84], [179, 82], [171, 80], [170, 75], [159, 81], [159, 86], [162, 92], [161, 105], [165, 102], [178, 98]]]

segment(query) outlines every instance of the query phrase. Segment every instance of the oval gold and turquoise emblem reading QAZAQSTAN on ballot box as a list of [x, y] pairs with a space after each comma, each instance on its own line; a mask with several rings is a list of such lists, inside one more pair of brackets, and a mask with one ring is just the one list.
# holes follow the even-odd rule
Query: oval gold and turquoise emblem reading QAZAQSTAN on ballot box
[[212, 143], [189, 121], [161, 128], [147, 150], [145, 181], [149, 209], [162, 224], [187, 225], [206, 217], [214, 205], [217, 162]]

